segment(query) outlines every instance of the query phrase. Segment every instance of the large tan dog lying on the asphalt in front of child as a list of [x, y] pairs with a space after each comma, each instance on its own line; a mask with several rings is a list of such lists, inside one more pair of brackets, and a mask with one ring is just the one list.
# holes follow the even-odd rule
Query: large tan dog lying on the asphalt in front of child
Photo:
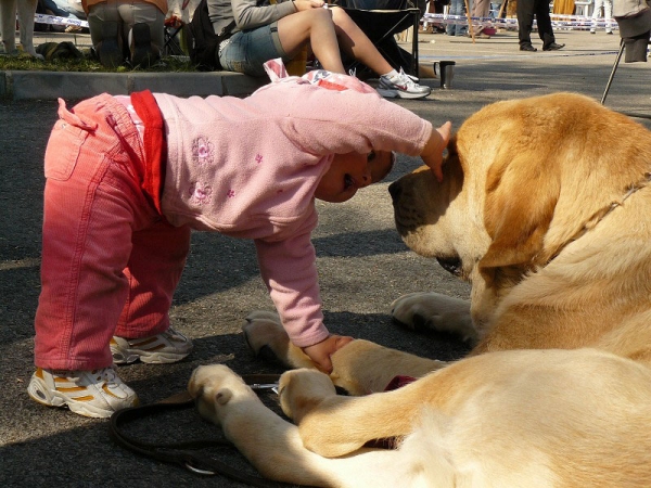
[[[199, 368], [200, 411], [270, 478], [331, 487], [651, 486], [651, 132], [567, 93], [501, 102], [429, 169], [390, 191], [417, 253], [472, 283], [470, 304], [419, 294], [408, 325], [476, 342], [455, 363], [354, 341], [327, 375], [289, 371], [285, 422], [222, 365]], [[271, 313], [245, 334], [309, 360]], [[396, 374], [420, 380], [381, 391]], [[363, 447], [397, 438], [397, 449]]]

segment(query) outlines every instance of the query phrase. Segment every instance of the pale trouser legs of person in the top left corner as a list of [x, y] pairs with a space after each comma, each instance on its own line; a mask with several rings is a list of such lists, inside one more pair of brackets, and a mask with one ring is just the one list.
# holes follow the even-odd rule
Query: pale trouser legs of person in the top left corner
[[34, 15], [38, 0], [0, 0], [0, 34], [7, 54], [16, 52], [16, 10], [23, 50], [36, 56], [34, 49]]

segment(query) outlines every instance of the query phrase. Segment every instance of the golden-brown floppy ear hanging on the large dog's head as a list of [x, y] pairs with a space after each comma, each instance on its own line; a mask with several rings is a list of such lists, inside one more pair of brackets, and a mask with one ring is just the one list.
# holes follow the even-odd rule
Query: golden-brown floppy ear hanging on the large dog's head
[[496, 157], [490, 166], [484, 223], [492, 243], [478, 264], [488, 286], [496, 281], [508, 286], [505, 280], [515, 284], [549, 258], [544, 240], [560, 193], [553, 172], [531, 153]]

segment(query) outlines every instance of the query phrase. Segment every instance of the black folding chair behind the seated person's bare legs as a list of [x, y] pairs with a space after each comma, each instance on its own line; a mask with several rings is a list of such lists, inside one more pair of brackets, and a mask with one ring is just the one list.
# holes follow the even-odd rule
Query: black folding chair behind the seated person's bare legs
[[[339, 0], [336, 4], [363, 30], [388, 64], [418, 77], [418, 31], [422, 14], [410, 0]], [[413, 35], [410, 59], [406, 60], [406, 51], [393, 36], [409, 27], [413, 27]], [[353, 61], [348, 67], [359, 64]]]

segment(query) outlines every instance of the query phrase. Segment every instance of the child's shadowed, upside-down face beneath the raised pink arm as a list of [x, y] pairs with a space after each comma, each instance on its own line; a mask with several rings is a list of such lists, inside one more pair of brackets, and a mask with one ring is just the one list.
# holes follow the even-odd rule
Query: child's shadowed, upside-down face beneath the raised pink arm
[[384, 179], [393, 163], [394, 155], [388, 151], [335, 154], [330, 169], [319, 181], [315, 196], [324, 202], [346, 202], [360, 188]]

